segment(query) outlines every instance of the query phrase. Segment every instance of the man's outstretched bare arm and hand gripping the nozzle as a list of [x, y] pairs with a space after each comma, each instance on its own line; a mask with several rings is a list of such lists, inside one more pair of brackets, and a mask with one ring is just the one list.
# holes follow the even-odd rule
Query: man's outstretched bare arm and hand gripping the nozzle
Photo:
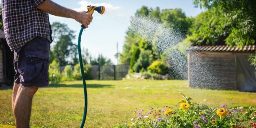
[[66, 18], [73, 18], [85, 27], [88, 27], [92, 22], [93, 17], [90, 14], [87, 14], [84, 11], [74, 11], [65, 7], [62, 7], [51, 0], [45, 0], [41, 4], [37, 6], [38, 9], [45, 11], [49, 14], [59, 16], [59, 17], [66, 17]]

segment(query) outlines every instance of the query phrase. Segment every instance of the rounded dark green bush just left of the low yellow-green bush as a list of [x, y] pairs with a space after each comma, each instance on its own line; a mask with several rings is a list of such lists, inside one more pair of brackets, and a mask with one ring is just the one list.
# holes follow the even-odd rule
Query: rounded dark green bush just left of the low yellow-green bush
[[133, 71], [139, 72], [142, 68], [147, 69], [147, 67], [153, 61], [153, 54], [150, 50], [141, 50], [139, 58], [133, 66]]

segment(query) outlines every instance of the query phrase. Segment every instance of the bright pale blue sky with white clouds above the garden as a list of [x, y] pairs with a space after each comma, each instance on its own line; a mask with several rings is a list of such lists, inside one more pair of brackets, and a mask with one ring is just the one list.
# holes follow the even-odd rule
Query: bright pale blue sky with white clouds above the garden
[[[186, 16], [195, 17], [202, 10], [194, 8], [192, 0], [52, 0], [53, 2], [66, 8], [76, 11], [87, 11], [86, 6], [91, 4], [95, 6], [105, 6], [105, 13], [109, 15], [101, 15], [95, 12], [93, 21], [89, 27], [83, 32], [81, 38], [81, 47], [87, 48], [92, 54], [92, 57], [97, 57], [98, 54], [111, 59], [113, 64], [117, 64], [117, 59], [114, 55], [118, 51], [122, 52], [125, 32], [129, 26], [131, 16], [142, 6], [150, 8], [160, 7], [162, 9], [181, 8]], [[70, 18], [56, 17], [49, 15], [50, 23], [59, 21], [65, 23], [71, 30], [75, 31], [76, 39], [73, 43], [77, 43], [77, 38], [80, 30], [80, 23]]]

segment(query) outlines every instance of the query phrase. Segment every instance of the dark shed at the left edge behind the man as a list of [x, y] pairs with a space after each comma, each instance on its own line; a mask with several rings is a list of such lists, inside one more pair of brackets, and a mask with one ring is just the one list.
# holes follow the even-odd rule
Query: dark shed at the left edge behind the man
[[4, 31], [0, 29], [0, 87], [11, 85], [14, 73], [13, 52], [7, 45]]

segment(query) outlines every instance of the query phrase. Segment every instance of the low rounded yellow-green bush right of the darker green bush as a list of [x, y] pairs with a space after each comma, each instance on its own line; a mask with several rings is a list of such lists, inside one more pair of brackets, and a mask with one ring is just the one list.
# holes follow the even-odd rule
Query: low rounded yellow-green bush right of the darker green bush
[[166, 75], [168, 74], [168, 67], [166, 64], [162, 61], [155, 60], [149, 67], [147, 67], [147, 70], [150, 73], [157, 73], [160, 75]]

